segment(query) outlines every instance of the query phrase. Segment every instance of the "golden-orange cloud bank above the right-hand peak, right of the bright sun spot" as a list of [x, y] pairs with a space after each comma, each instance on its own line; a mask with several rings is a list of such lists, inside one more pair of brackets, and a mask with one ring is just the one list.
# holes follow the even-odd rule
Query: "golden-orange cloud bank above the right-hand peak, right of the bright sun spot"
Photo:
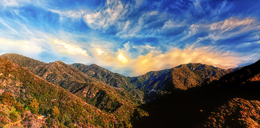
[[189, 47], [183, 50], [174, 48], [167, 53], [156, 56], [154, 54], [154, 51], [151, 51], [147, 55], [141, 55], [131, 60], [132, 75], [141, 75], [151, 70], [163, 70], [187, 63], [203, 63], [217, 65], [220, 68], [234, 68], [242, 61], [234, 53], [211, 52], [208, 47], [195, 49]]

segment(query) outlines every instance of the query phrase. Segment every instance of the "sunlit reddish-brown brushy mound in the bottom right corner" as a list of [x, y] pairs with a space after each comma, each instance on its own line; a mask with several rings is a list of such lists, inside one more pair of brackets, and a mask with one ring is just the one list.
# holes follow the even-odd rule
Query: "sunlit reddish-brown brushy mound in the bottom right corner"
[[212, 112], [204, 127], [260, 127], [260, 102], [234, 98]]

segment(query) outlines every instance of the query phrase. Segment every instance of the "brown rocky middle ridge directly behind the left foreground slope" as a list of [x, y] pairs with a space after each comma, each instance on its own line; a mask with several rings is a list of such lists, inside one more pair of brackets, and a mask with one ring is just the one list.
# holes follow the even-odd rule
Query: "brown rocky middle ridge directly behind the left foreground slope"
[[121, 88], [115, 88], [92, 78], [61, 61], [32, 69], [36, 75], [68, 89], [87, 103], [109, 113], [113, 113], [120, 126], [131, 127], [131, 116], [141, 101]]

